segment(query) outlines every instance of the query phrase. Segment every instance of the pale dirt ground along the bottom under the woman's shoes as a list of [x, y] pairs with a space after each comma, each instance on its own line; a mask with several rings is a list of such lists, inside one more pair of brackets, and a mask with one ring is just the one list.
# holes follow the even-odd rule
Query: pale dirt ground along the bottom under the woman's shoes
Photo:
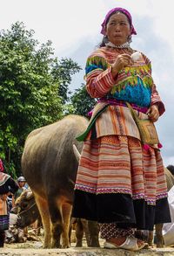
[[[4, 245], [1, 248], [0, 255], [3, 256], [30, 256], [30, 255], [61, 255], [61, 256], [129, 256], [129, 255], [174, 255], [174, 247], [166, 247], [157, 249], [155, 246], [150, 249], [144, 249], [141, 252], [131, 253], [125, 250], [107, 250], [104, 249], [104, 239], [100, 239], [101, 248], [89, 248], [86, 246], [85, 239], [83, 240], [83, 247], [75, 247], [75, 237], [72, 238], [72, 243], [68, 249], [43, 249], [43, 234], [40, 236], [32, 236], [25, 243], [11, 243]], [[116, 253], [117, 252], [117, 253]]]

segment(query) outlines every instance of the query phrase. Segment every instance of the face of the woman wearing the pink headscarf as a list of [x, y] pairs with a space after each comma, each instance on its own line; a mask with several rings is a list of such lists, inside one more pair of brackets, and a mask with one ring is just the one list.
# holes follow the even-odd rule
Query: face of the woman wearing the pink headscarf
[[106, 25], [106, 36], [114, 45], [123, 45], [130, 36], [130, 23], [123, 13], [115, 13], [110, 16]]

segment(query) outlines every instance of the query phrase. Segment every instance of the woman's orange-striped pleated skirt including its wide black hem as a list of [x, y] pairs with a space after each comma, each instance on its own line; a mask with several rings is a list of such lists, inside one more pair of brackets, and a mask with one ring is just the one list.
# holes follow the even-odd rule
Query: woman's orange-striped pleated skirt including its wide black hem
[[145, 230], [171, 222], [160, 151], [131, 136], [86, 140], [72, 216]]

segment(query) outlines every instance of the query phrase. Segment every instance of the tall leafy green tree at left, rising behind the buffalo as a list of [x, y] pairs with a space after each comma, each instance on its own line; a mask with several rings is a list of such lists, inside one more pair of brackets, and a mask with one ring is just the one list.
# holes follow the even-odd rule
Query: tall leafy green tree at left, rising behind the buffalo
[[0, 32], [0, 157], [13, 176], [30, 131], [63, 116], [70, 75], [79, 68], [71, 59], [58, 61], [51, 42], [39, 44], [23, 23]]

